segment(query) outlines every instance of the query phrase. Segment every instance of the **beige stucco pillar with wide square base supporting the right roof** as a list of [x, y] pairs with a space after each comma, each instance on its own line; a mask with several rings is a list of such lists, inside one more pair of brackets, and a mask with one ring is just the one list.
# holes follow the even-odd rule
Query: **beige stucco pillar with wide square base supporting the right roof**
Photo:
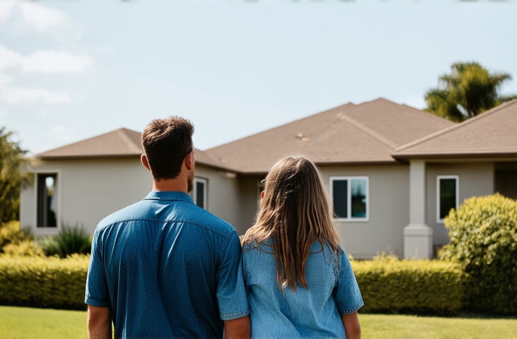
[[409, 163], [409, 225], [404, 227], [404, 258], [433, 256], [433, 229], [425, 224], [425, 161]]

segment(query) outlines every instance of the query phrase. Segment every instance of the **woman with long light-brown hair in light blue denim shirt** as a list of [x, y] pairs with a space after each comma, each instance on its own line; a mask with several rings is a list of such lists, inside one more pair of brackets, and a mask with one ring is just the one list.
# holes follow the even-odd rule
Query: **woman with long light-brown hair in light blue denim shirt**
[[316, 166], [280, 160], [242, 238], [251, 336], [360, 338], [361, 293]]

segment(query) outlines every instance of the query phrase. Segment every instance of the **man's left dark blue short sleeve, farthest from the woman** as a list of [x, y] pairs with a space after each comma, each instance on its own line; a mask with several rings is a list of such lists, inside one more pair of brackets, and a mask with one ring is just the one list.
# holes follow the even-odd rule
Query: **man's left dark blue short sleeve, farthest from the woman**
[[104, 265], [102, 264], [98, 232], [95, 233], [92, 240], [92, 254], [90, 255], [90, 263], [88, 265], [84, 302], [98, 307], [110, 306], [108, 283]]

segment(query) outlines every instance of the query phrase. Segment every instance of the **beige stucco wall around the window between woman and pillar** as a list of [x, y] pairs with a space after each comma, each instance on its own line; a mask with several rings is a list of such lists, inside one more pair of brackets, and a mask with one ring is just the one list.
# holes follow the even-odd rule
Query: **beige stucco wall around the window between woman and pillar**
[[404, 255], [404, 227], [409, 221], [409, 165], [323, 166], [329, 189], [331, 176], [369, 178], [369, 220], [337, 222], [345, 251], [358, 259], [385, 252]]

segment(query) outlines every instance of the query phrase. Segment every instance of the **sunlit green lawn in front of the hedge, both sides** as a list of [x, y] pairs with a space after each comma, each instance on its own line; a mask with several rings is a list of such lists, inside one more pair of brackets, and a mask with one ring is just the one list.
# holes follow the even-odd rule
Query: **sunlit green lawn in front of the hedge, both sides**
[[[516, 318], [360, 314], [364, 339], [517, 339]], [[0, 306], [0, 338], [86, 338], [86, 312]]]

